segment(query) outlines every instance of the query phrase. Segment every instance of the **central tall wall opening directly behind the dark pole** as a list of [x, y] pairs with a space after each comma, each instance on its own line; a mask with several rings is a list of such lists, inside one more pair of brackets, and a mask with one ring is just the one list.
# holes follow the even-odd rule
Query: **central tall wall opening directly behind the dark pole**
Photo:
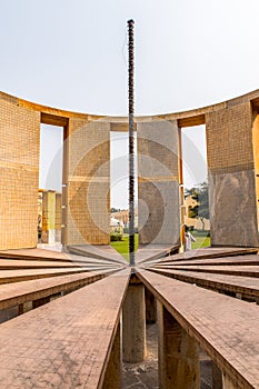
[[[110, 132], [110, 235], [111, 245], [128, 259], [129, 240], [129, 134]], [[135, 227], [138, 247], [138, 166], [135, 133]]]

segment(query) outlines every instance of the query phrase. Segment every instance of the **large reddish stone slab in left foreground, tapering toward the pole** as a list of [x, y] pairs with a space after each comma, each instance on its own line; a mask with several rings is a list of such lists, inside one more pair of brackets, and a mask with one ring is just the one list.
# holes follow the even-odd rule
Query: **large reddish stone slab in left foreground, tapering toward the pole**
[[0, 326], [0, 388], [98, 387], [129, 269]]

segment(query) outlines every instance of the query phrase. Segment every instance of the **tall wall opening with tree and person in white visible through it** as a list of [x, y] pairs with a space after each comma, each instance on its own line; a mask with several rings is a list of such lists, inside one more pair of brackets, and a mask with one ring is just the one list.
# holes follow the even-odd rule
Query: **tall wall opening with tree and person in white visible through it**
[[191, 248], [210, 246], [209, 187], [206, 126], [181, 128], [181, 240], [185, 226], [196, 241]]

